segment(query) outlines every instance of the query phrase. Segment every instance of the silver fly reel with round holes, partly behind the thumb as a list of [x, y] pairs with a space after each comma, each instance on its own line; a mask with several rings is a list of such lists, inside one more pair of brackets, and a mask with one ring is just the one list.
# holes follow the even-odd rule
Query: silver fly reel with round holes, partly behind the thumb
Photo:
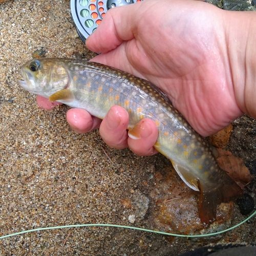
[[71, 0], [71, 14], [83, 42], [100, 25], [106, 11], [143, 0]]

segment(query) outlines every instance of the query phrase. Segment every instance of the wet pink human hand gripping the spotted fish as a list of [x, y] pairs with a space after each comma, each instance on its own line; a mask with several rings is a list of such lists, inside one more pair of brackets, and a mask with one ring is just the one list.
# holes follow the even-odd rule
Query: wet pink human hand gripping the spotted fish
[[[163, 0], [160, 5], [147, 0], [109, 10], [86, 45], [102, 52], [93, 61], [156, 84], [191, 126], [207, 136], [249, 113], [243, 99], [245, 49], [237, 35], [243, 28], [239, 25], [239, 31], [233, 31], [236, 24], [227, 25], [233, 15], [198, 1]], [[235, 38], [237, 45], [230, 38]], [[237, 49], [241, 54], [235, 52]], [[241, 75], [234, 75], [238, 70]], [[67, 114], [77, 132], [86, 133], [100, 125], [100, 134], [110, 146], [129, 146], [140, 155], [154, 154], [154, 122], [143, 119], [141, 134], [150, 134], [150, 139], [136, 141], [127, 137], [127, 118], [119, 106], [111, 109], [101, 125], [84, 110], [72, 109]], [[108, 122], [116, 123], [115, 129], [108, 127]]]

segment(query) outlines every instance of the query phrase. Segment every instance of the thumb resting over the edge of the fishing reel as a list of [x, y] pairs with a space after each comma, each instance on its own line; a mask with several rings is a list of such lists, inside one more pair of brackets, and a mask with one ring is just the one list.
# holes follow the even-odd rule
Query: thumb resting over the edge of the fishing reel
[[140, 4], [116, 7], [106, 12], [100, 26], [86, 40], [88, 49], [104, 53], [134, 38], [134, 19], [137, 18], [136, 10]]

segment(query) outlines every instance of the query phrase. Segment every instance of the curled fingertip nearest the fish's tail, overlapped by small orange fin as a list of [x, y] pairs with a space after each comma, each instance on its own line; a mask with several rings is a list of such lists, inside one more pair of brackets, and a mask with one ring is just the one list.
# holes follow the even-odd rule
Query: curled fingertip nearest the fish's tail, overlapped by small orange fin
[[158, 129], [153, 120], [149, 118], [142, 119], [129, 131], [128, 135], [128, 145], [135, 154], [152, 156], [158, 153], [154, 148], [158, 137]]

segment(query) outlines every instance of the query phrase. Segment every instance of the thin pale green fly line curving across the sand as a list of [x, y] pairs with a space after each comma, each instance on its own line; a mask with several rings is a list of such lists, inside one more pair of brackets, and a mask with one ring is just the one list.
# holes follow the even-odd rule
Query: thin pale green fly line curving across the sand
[[250, 215], [248, 218], [246, 218], [244, 221], [240, 222], [239, 224], [237, 224], [233, 227], [227, 228], [225, 230], [214, 232], [214, 233], [209, 233], [209, 234], [195, 234], [195, 235], [173, 234], [173, 233], [166, 233], [166, 232], [161, 232], [161, 231], [151, 230], [151, 229], [145, 229], [145, 228], [140, 228], [140, 227], [97, 223], [97, 224], [77, 224], [77, 225], [67, 225], [67, 226], [56, 226], [56, 227], [41, 227], [41, 228], [35, 228], [35, 229], [30, 229], [30, 230], [24, 230], [24, 231], [20, 231], [20, 232], [17, 232], [17, 233], [7, 234], [6, 236], [0, 237], [0, 239], [18, 236], [19, 234], [30, 233], [30, 232], [35, 232], [35, 231], [42, 231], [42, 230], [49, 230], [49, 229], [71, 228], [71, 227], [96, 227], [96, 226], [135, 229], [135, 230], [140, 230], [140, 231], [144, 231], [144, 232], [165, 234], [167, 236], [181, 237], [181, 238], [200, 238], [200, 237], [216, 236], [217, 234], [221, 234], [221, 233], [227, 232], [229, 230], [232, 230], [234, 228], [237, 228], [237, 227], [241, 226], [242, 224], [244, 224], [249, 219], [251, 219], [254, 215], [256, 215], [256, 210], [253, 212], [252, 215]]

